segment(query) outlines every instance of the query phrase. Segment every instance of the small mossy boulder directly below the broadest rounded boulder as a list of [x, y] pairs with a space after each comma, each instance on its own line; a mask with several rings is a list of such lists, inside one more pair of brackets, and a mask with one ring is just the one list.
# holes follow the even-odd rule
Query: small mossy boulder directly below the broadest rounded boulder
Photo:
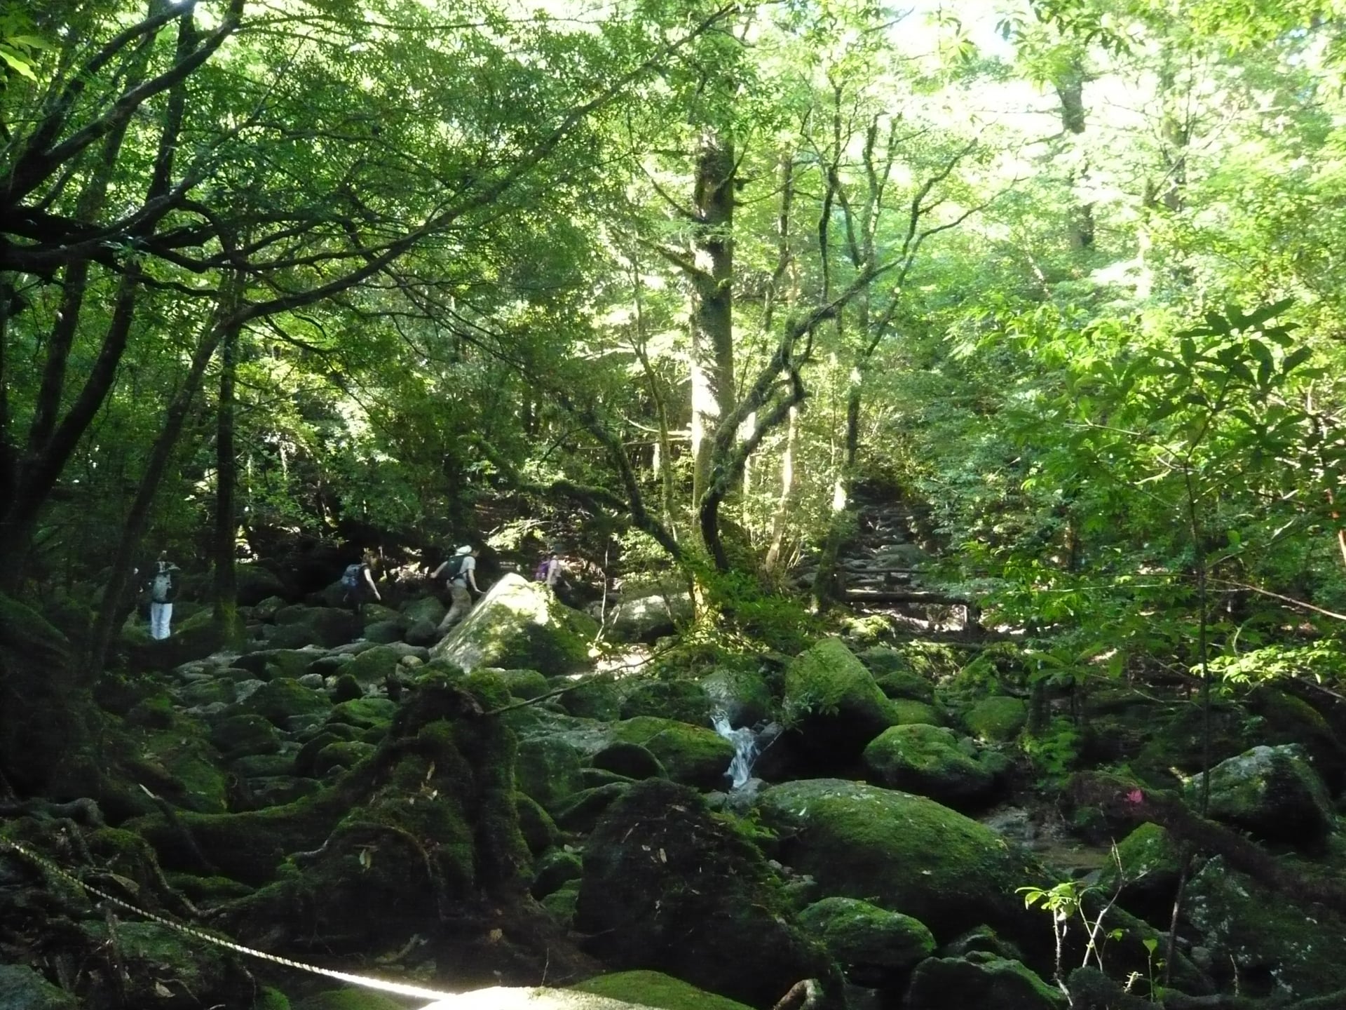
[[816, 901], [800, 912], [800, 927], [857, 986], [890, 984], [934, 953], [934, 935], [923, 922], [856, 898]]

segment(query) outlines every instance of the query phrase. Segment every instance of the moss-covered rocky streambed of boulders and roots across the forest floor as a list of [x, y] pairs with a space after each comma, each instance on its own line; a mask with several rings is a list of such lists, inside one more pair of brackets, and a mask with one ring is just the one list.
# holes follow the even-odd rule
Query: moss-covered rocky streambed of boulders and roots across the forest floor
[[[1058, 974], [1098, 1006], [1166, 976], [1206, 1006], [1346, 986], [1339, 908], [1166, 813], [1193, 788], [1175, 774], [1198, 760], [1190, 703], [1093, 692], [1070, 765], [1101, 757], [1125, 777], [1073, 799], [1070, 768], [1034, 757], [1040, 730], [1024, 737], [1010, 648], [669, 649], [614, 676], [594, 672], [596, 625], [517, 576], [436, 641], [441, 613], [420, 598], [351, 626], [269, 599], [244, 650], [184, 657], [190, 628], [178, 653], [136, 644], [140, 668], [94, 694], [122, 788], [74, 807], [15, 792], [5, 836], [250, 947], [454, 992], [545, 986], [555, 1006], [773, 1007], [793, 991], [1034, 1010], [1066, 1006]], [[3, 659], [11, 684], [40, 675]], [[779, 730], [744, 788], [728, 788], [717, 714]], [[1346, 761], [1329, 719], [1279, 692], [1225, 702], [1217, 750], [1199, 823], [1296, 881], [1330, 874]], [[1061, 882], [1079, 905], [1058, 955], [1020, 889]], [[1100, 921], [1089, 955], [1079, 916]], [[0, 1007], [390, 1006], [109, 909], [3, 851], [0, 962]], [[1105, 974], [1071, 974], [1085, 962]]]

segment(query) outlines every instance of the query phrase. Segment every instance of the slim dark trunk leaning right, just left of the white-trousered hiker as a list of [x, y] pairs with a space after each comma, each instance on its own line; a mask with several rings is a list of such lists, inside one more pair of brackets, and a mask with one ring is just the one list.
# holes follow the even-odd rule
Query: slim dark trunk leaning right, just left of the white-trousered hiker
[[[174, 451], [178, 448], [183, 423], [187, 420], [197, 393], [201, 391], [206, 366], [210, 364], [226, 334], [226, 327], [221, 325], [219, 315], [223, 315], [223, 312], [219, 312], [207, 323], [206, 330], [197, 343], [187, 376], [168, 404], [163, 430], [159, 432], [159, 438], [155, 439], [149, 461], [140, 475], [136, 497], [131, 504], [131, 512], [121, 529], [121, 539], [117, 541], [112, 575], [109, 575], [108, 584], [104, 587], [98, 618], [94, 621], [85, 656], [83, 677], [90, 683], [102, 671], [104, 663], [108, 659], [108, 649], [112, 645], [112, 637], [117, 633], [121, 615], [125, 613], [125, 602], [132, 588], [135, 558], [140, 551], [140, 541], [144, 539], [145, 529], [149, 527], [151, 509], [155, 496], [159, 492], [159, 485], [163, 481], [164, 471], [168, 469], [168, 463], [172, 461]], [[230, 325], [232, 327], [233, 325]]]

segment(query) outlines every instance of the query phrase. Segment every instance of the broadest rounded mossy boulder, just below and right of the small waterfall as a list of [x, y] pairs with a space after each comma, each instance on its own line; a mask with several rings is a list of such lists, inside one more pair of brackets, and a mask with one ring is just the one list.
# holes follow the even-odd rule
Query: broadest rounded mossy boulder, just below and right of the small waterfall
[[1042, 927], [1015, 889], [1044, 879], [1043, 870], [934, 800], [816, 778], [763, 789], [756, 811], [779, 836], [778, 858], [825, 893], [913, 916], [937, 940], [983, 922], [1011, 933]]

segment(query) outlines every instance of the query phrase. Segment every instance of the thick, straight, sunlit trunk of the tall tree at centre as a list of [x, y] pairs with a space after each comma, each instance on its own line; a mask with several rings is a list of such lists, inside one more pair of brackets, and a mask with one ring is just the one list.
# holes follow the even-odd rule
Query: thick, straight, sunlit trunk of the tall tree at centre
[[[713, 434], [734, 412], [734, 144], [707, 129], [696, 160], [692, 280], [692, 501], [712, 483]], [[709, 544], [707, 544], [709, 548]]]

